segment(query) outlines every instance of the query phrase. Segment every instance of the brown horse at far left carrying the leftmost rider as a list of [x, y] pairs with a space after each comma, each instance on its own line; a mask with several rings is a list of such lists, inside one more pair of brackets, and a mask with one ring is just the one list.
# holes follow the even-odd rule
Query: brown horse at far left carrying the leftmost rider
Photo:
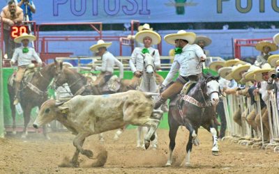
[[[40, 71], [35, 72], [31, 81], [24, 82], [24, 79], [22, 79], [22, 88], [20, 89], [20, 104], [22, 106], [24, 116], [22, 138], [26, 138], [28, 134], [27, 126], [30, 121], [31, 109], [35, 106], [40, 107], [43, 102], [47, 101], [47, 86], [49, 86], [55, 72], [58, 71], [59, 68], [61, 68], [61, 63], [54, 61], [54, 63], [51, 63], [42, 68]], [[13, 81], [13, 74], [9, 77], [9, 81]], [[8, 83], [8, 93], [13, 118], [13, 134], [16, 134], [15, 105], [13, 104], [13, 100], [15, 99], [15, 89], [13, 87], [13, 83]], [[43, 127], [43, 134], [46, 139], [50, 139], [49, 136], [47, 136], [45, 127]]]

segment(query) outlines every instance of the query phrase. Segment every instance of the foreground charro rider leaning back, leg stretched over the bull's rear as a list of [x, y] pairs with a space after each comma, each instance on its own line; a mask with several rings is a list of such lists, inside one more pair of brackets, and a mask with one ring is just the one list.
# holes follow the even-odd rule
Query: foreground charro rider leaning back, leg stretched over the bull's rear
[[171, 45], [175, 45], [175, 57], [172, 68], [169, 70], [166, 79], [163, 81], [162, 86], [167, 86], [176, 72], [179, 71], [179, 77], [176, 79], [174, 84], [169, 86], [163, 93], [160, 94], [160, 99], [156, 102], [154, 109], [172, 97], [176, 93], [179, 93], [184, 84], [188, 81], [198, 81], [199, 75], [202, 73], [202, 66], [200, 62], [206, 60], [201, 47], [198, 45], [192, 45], [195, 42], [196, 34], [186, 31], [178, 31], [177, 33], [165, 35], [165, 41]]

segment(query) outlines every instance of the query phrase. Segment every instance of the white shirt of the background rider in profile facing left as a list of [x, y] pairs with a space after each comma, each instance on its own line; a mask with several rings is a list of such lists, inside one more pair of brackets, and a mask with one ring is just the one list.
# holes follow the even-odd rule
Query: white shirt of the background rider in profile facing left
[[102, 66], [96, 67], [96, 70], [102, 72], [114, 72], [114, 65], [119, 67], [119, 78], [123, 79], [123, 64], [117, 60], [110, 52], [105, 52], [102, 56]]

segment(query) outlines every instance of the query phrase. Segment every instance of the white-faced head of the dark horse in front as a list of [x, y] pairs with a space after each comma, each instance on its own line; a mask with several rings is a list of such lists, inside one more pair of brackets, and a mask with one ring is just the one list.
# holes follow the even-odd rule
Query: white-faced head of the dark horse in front
[[218, 79], [219, 77], [206, 77], [201, 85], [202, 92], [205, 95], [204, 97], [210, 98], [213, 106], [217, 106], [219, 102], [220, 88]]

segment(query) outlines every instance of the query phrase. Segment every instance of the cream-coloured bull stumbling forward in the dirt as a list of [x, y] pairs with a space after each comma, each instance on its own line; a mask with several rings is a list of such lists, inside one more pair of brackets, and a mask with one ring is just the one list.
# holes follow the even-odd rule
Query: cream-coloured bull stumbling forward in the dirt
[[87, 136], [119, 129], [124, 125], [150, 127], [149, 133], [144, 138], [148, 148], [160, 122], [156, 118], [158, 116], [156, 112], [153, 111], [151, 95], [137, 90], [112, 95], [78, 95], [65, 103], [47, 100], [41, 106], [33, 127], [38, 128], [52, 120], [58, 120], [73, 132], [76, 135], [73, 145], [77, 150], [72, 163], [73, 166], [78, 166], [79, 153], [89, 158], [93, 157], [91, 150], [82, 148]]

